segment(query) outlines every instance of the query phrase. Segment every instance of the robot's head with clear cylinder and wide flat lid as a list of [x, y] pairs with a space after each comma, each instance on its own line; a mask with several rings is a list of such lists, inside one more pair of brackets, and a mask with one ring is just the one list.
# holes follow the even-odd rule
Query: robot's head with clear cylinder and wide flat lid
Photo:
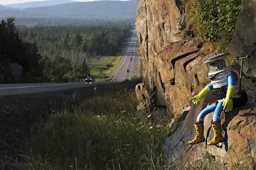
[[209, 76], [223, 71], [228, 71], [231, 68], [230, 62], [227, 59], [227, 55], [229, 55], [229, 53], [214, 55], [213, 57], [209, 57], [203, 62], [207, 64]]

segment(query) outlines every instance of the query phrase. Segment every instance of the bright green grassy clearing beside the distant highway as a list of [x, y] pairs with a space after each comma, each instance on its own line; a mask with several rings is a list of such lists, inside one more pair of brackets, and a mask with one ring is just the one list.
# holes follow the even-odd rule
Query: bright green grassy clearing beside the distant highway
[[115, 71], [122, 56], [104, 56], [92, 59], [89, 62], [90, 74], [97, 78], [108, 78]]

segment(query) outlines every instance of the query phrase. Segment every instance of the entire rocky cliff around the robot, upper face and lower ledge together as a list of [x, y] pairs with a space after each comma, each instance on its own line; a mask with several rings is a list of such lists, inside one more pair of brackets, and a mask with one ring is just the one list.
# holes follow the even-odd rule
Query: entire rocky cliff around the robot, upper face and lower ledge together
[[[196, 1], [138, 0], [136, 30], [143, 66], [140, 88], [143, 85], [143, 94], [147, 94], [141, 97], [140, 107], [147, 104], [153, 108], [164, 106], [178, 122], [165, 145], [166, 157], [168, 160], [176, 159], [178, 166], [184, 166], [187, 160], [202, 159], [203, 153], [210, 153], [229, 167], [244, 161], [253, 165], [256, 161], [256, 138], [252, 134], [255, 131], [255, 109], [251, 108], [256, 107], [252, 103], [256, 90], [256, 69], [253, 67], [256, 57], [256, 3], [242, 1], [234, 39], [229, 47], [233, 57], [250, 55], [250, 59], [244, 60], [243, 69], [243, 86], [250, 103], [236, 108], [230, 115], [223, 115], [225, 147], [217, 149], [216, 146], [205, 149], [204, 144], [186, 144], [195, 135], [193, 124], [196, 116], [209, 101], [198, 107], [192, 105], [190, 111], [182, 110], [191, 105], [189, 97], [197, 94], [207, 83], [207, 67], [202, 61], [218, 53], [214, 48], [202, 46], [189, 34], [191, 25], [186, 17], [189, 4], [195, 5]], [[137, 96], [140, 96], [142, 92], [138, 87], [136, 89]], [[211, 125], [211, 118], [212, 115], [207, 115], [205, 132]]]

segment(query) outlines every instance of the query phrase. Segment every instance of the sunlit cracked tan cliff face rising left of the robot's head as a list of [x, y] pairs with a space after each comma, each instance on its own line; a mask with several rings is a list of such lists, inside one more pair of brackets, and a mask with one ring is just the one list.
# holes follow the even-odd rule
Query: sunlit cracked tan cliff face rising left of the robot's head
[[143, 83], [150, 103], [166, 106], [174, 117], [206, 84], [207, 66], [202, 61], [215, 54], [181, 36], [186, 28], [184, 6], [182, 1], [140, 0], [137, 9]]

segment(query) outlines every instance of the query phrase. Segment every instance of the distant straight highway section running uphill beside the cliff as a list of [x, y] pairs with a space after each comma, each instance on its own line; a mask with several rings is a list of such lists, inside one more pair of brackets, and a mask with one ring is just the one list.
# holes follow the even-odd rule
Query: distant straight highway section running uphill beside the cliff
[[[138, 37], [135, 30], [132, 30], [132, 36], [124, 50], [122, 60], [112, 74], [112, 82], [131, 80], [138, 76]], [[127, 71], [129, 70], [129, 71]]]

